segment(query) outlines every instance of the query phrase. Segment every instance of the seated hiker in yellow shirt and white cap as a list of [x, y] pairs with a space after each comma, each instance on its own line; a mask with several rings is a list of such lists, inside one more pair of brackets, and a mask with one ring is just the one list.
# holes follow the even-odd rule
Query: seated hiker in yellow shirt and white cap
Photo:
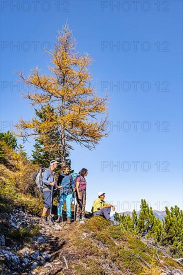
[[100, 191], [98, 193], [98, 197], [93, 201], [92, 209], [93, 215], [104, 216], [106, 220], [110, 220], [110, 209], [115, 210], [115, 207], [111, 204], [108, 204], [103, 199], [105, 197], [105, 193]]

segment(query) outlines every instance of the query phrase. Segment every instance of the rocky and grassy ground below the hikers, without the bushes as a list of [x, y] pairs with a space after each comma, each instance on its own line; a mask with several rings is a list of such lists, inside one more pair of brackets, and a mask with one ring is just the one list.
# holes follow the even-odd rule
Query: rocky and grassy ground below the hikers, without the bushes
[[18, 208], [0, 224], [1, 274], [183, 274], [165, 248], [102, 217], [45, 226]]

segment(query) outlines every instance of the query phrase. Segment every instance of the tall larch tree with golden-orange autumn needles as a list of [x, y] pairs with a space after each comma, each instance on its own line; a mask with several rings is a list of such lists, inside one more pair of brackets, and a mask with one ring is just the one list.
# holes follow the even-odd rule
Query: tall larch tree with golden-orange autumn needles
[[[67, 152], [73, 149], [73, 142], [93, 149], [107, 135], [107, 94], [104, 97], [97, 95], [88, 71], [92, 59], [87, 53], [79, 54], [75, 46], [75, 38], [66, 23], [58, 31], [54, 49], [49, 51], [50, 74], [40, 74], [38, 67], [27, 77], [18, 73], [20, 81], [34, 88], [24, 94], [31, 105], [40, 108], [49, 104], [51, 111], [47, 108], [45, 121], [36, 116], [29, 120], [20, 118], [16, 134], [25, 139], [41, 137], [47, 152], [59, 150], [62, 165]], [[50, 142], [51, 133], [57, 129], [60, 132], [57, 139]]]

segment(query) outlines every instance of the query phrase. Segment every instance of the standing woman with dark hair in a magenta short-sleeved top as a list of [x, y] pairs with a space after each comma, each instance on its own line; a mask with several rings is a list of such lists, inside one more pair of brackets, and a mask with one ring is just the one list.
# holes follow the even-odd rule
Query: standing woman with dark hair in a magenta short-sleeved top
[[79, 176], [75, 179], [75, 188], [76, 188], [76, 221], [86, 220], [84, 217], [85, 205], [86, 205], [86, 180], [87, 169], [82, 168], [79, 172]]

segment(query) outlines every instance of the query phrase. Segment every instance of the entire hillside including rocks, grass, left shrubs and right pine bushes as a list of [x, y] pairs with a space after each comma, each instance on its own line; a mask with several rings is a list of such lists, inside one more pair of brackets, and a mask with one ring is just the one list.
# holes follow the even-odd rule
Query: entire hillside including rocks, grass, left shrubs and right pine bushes
[[[0, 140], [1, 274], [183, 274], [182, 210], [166, 210], [163, 228], [145, 200], [138, 222], [133, 213], [116, 214], [117, 225], [90, 216], [75, 224], [72, 211], [70, 225], [46, 226], [32, 180], [37, 169], [22, 150]], [[54, 213], [56, 198], [53, 220]]]

